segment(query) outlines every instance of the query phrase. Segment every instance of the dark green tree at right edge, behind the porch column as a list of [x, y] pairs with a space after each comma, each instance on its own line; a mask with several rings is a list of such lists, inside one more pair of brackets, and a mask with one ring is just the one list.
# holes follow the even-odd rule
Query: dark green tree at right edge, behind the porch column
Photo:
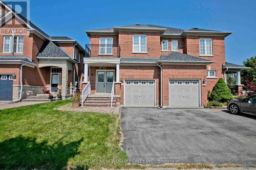
[[256, 56], [251, 57], [243, 62], [246, 67], [250, 69], [242, 70], [242, 82], [247, 85], [247, 82], [251, 82], [256, 85]]

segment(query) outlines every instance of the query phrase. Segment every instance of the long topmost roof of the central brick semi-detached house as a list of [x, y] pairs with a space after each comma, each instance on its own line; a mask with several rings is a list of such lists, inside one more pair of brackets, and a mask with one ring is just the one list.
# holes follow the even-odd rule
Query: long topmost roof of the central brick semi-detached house
[[222, 34], [224, 36], [227, 36], [231, 34], [231, 32], [222, 32], [222, 31], [215, 31], [215, 30], [206, 30], [206, 29], [198, 29], [198, 28], [192, 28], [189, 30], [183, 30], [183, 29], [177, 29], [177, 28], [171, 28], [171, 27], [164, 27], [164, 26], [156, 26], [156, 25], [130, 25], [130, 26], [121, 26], [121, 27], [112, 27], [112, 28], [106, 28], [106, 29], [98, 29], [98, 30], [91, 30], [86, 31], [87, 35], [90, 36], [91, 33], [118, 33], [119, 30], [155, 30], [159, 31], [161, 33], [161, 36], [184, 36], [187, 33], [218, 33]]

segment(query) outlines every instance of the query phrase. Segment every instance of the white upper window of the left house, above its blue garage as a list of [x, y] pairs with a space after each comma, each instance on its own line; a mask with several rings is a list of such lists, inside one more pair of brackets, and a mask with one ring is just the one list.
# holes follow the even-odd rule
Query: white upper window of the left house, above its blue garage
[[4, 36], [3, 53], [23, 53], [24, 37]]

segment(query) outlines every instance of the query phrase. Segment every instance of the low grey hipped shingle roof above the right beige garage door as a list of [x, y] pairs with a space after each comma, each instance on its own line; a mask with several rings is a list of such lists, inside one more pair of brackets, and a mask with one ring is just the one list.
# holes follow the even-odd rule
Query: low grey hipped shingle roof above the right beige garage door
[[166, 56], [161, 56], [159, 61], [181, 61], [181, 62], [212, 62], [210, 60], [205, 60], [200, 57], [190, 56], [179, 52], [170, 52]]

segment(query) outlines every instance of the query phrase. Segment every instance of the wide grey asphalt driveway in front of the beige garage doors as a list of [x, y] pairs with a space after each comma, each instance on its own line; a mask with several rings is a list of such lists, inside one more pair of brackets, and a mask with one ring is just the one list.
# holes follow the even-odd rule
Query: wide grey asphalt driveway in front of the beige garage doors
[[121, 120], [131, 163], [256, 164], [256, 116], [124, 107]]

